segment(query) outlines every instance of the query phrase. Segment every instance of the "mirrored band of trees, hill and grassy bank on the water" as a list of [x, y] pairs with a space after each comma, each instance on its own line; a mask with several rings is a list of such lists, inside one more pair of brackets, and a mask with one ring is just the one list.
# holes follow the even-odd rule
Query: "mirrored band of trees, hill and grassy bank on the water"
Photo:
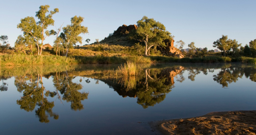
[[[44, 67], [0, 67], [1, 91], [8, 90], [5, 81], [14, 77], [17, 91], [23, 93], [16, 102], [20, 109], [35, 111], [40, 122], [48, 123], [49, 117], [59, 119], [59, 114], [52, 109], [57, 98], [60, 103], [71, 103], [70, 109], [84, 109], [83, 100], [89, 93], [81, 92], [82, 84], [95, 85], [99, 81], [106, 83], [122, 97], [137, 98], [137, 104], [144, 109], [165, 100], [176, 82], [184, 83], [186, 79], [195, 81], [199, 74], [214, 73], [213, 80], [222, 87], [236, 83], [243, 76], [256, 82], [254, 65], [238, 64], [179, 64], [140, 66], [136, 76], [123, 77], [115, 74], [116, 66], [44, 66]], [[217, 70], [217, 72], [215, 72]], [[186, 76], [186, 77], [185, 77]], [[73, 81], [78, 77], [79, 81]], [[87, 77], [88, 79], [82, 79]], [[52, 80], [54, 90], [46, 89], [44, 79]], [[95, 84], [91, 81], [95, 79]]]

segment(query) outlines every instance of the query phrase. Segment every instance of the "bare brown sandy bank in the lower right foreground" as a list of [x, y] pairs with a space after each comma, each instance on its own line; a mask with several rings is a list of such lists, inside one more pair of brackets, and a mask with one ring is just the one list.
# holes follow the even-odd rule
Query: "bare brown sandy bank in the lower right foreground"
[[165, 135], [172, 134], [256, 134], [256, 110], [212, 112], [203, 116], [151, 123]]

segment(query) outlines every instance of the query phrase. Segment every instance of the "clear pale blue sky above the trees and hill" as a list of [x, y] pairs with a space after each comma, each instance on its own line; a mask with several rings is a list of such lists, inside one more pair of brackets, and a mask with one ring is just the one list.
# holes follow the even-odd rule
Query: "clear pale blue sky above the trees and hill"
[[[55, 26], [59, 28], [70, 24], [71, 17], [84, 17], [82, 25], [88, 27], [89, 34], [82, 35], [83, 44], [87, 38], [91, 42], [102, 40], [126, 24], [137, 24], [142, 17], [154, 18], [162, 22], [186, 45], [195, 42], [196, 47], [214, 49], [212, 43], [222, 35], [236, 39], [242, 46], [256, 39], [256, 1], [255, 0], [8, 0], [0, 6], [0, 35], [7, 35], [14, 46], [18, 35], [20, 19], [35, 17], [40, 5], [50, 5], [49, 10], [59, 8], [53, 15]], [[36, 19], [37, 21], [37, 19]], [[53, 45], [55, 36], [48, 37], [44, 43]]]

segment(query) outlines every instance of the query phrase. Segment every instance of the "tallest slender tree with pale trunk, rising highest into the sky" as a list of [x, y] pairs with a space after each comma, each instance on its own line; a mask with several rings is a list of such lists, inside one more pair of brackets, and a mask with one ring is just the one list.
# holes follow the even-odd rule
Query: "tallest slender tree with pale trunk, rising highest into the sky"
[[[47, 27], [50, 25], [54, 25], [54, 20], [52, 19], [52, 15], [55, 13], [59, 12], [58, 8], [54, 8], [53, 11], [48, 11], [49, 5], [41, 5], [39, 7], [39, 11], [36, 12], [36, 17], [39, 19], [37, 22], [38, 25], [40, 25], [41, 29], [41, 50], [40, 50], [40, 55], [42, 54], [42, 47], [43, 47], [43, 42], [44, 39], [49, 36], [49, 35], [54, 35], [56, 32], [54, 30], [47, 30]], [[46, 15], [47, 14], [47, 15]], [[44, 35], [45, 34], [45, 35]]]

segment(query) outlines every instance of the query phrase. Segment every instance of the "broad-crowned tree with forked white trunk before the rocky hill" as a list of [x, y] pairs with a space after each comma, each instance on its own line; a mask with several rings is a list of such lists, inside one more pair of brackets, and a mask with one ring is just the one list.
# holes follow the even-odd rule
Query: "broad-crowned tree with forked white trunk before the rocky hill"
[[165, 30], [161, 22], [156, 22], [153, 18], [144, 16], [137, 21], [138, 28], [130, 32], [130, 38], [136, 39], [145, 44], [144, 56], [148, 56], [150, 48], [153, 46], [165, 46], [164, 39], [172, 39], [171, 33]]

